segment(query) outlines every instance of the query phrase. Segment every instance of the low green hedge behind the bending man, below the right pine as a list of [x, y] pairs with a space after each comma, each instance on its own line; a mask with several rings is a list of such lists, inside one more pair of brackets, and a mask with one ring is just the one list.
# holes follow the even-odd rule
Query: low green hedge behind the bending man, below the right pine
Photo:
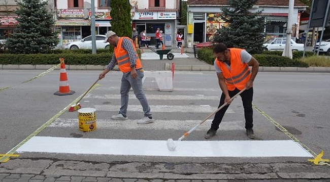
[[[305, 52], [306, 57], [311, 55], [313, 55], [312, 52]], [[197, 56], [206, 63], [214, 65], [215, 56], [213, 55], [212, 49], [202, 48], [197, 52]], [[302, 51], [295, 51], [292, 53], [292, 57], [295, 57], [295, 59], [282, 56], [281, 51], [265, 51], [263, 54], [252, 56], [258, 60], [260, 66], [309, 67], [307, 63], [298, 60], [303, 57]]]

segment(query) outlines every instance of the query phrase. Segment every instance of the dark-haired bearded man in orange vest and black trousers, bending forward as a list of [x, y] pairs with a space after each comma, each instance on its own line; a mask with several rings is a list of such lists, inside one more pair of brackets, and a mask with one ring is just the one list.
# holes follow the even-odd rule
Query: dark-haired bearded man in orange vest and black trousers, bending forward
[[[240, 94], [244, 107], [245, 129], [248, 138], [254, 139], [253, 132], [253, 81], [258, 73], [259, 63], [247, 51], [238, 48], [227, 49], [223, 43], [218, 43], [213, 49], [216, 59], [214, 67], [217, 72], [219, 86], [222, 90], [219, 107], [228, 103], [219, 110], [212, 121], [211, 128], [205, 134], [205, 139], [211, 139], [217, 130], [233, 96]], [[252, 66], [250, 70], [249, 66]], [[219, 108], [218, 107], [218, 108]]]

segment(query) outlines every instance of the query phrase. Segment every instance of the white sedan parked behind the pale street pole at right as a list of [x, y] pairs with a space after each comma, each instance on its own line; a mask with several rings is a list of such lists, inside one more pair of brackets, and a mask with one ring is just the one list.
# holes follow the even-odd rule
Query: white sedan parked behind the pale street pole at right
[[[270, 38], [263, 46], [268, 51], [283, 51], [285, 48], [286, 38]], [[292, 51], [304, 51], [304, 43], [296, 43], [291, 39], [291, 49]]]

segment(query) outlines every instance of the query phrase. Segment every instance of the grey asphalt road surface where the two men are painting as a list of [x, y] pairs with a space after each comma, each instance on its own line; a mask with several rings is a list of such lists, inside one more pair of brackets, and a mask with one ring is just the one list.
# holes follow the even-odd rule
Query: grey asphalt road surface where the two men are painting
[[[118, 123], [110, 119], [120, 107], [119, 87], [121, 73], [111, 72], [81, 101], [83, 107], [97, 108], [100, 127], [95, 131], [82, 132], [75, 123], [77, 112], [61, 112], [63, 108], [81, 96], [97, 79], [100, 71], [69, 71], [69, 84], [76, 93], [70, 96], [56, 96], [59, 71], [37, 77], [38, 70], [0, 71], [0, 154], [13, 151], [30, 134], [79, 139], [122, 139], [156, 140], [178, 139], [185, 131], [203, 120], [218, 106], [221, 94], [214, 72], [177, 71], [174, 76], [174, 92], [159, 92], [153, 79], [146, 79], [145, 93], [153, 112], [155, 123], [136, 125], [143, 115], [140, 110], [129, 110], [129, 122]], [[323, 159], [330, 158], [330, 133], [328, 104], [330, 94], [329, 73], [278, 73], [259, 72], [254, 82], [254, 130], [256, 141], [291, 140], [288, 134], [299, 140], [311, 155], [324, 151]], [[25, 82], [27, 81], [27, 82]], [[24, 83], [23, 83], [24, 82]], [[132, 93], [133, 94], [133, 93]], [[175, 99], [176, 98], [176, 99]], [[139, 106], [130, 97], [129, 105]], [[111, 107], [110, 107], [111, 106]], [[159, 106], [170, 109], [157, 110]], [[186, 108], [183, 108], [183, 106]], [[171, 110], [176, 108], [177, 111]], [[183, 108], [183, 109], [182, 109]], [[194, 110], [194, 108], [197, 108]], [[203, 109], [207, 111], [203, 111]], [[161, 108], [160, 108], [161, 109]], [[181, 110], [182, 109], [182, 110]], [[234, 100], [226, 113], [223, 129], [211, 141], [250, 141], [245, 135], [243, 108], [240, 98]], [[213, 117], [211, 117], [213, 118]], [[52, 121], [54, 119], [54, 121]], [[73, 121], [60, 125], [60, 121]], [[47, 125], [36, 132], [46, 122]], [[161, 122], [168, 122], [167, 124]], [[276, 126], [277, 125], [277, 126]], [[280, 131], [278, 126], [287, 129]], [[207, 121], [185, 141], [205, 141], [204, 134], [210, 127]], [[30, 138], [32, 137], [30, 136]], [[93, 148], [95, 146], [90, 146]], [[148, 148], [148, 146], [141, 146]], [[196, 146], [197, 147], [197, 146]], [[18, 148], [19, 150], [19, 148]], [[14, 150], [15, 151], [15, 150]], [[59, 149], [61, 151], [61, 149]], [[245, 153], [248, 151], [242, 151]], [[308, 157], [171, 157], [136, 155], [81, 155], [68, 153], [24, 152], [21, 158], [82, 161], [137, 161], [137, 162], [215, 162], [215, 163], [290, 163], [307, 162]]]

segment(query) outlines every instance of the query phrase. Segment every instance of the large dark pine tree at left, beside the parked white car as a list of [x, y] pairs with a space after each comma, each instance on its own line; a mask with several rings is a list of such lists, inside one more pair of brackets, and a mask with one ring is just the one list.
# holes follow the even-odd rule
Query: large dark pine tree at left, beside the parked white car
[[58, 38], [52, 28], [54, 19], [47, 10], [47, 3], [40, 0], [17, 1], [17, 30], [6, 43], [11, 53], [45, 53], [56, 46]]

